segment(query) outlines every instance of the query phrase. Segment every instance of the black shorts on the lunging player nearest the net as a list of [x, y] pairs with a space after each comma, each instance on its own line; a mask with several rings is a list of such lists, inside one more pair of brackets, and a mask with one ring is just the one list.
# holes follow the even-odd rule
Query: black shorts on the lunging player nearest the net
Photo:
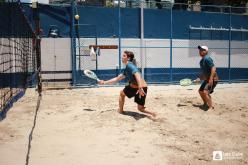
[[[143, 87], [143, 90], [147, 94], [147, 87]], [[128, 98], [134, 97], [134, 102], [136, 102], [137, 104], [143, 105], [143, 106], [145, 105], [146, 95], [141, 96], [141, 98], [139, 98], [139, 93], [137, 93], [138, 92], [138, 88], [132, 88], [132, 87], [130, 87], [130, 85], [127, 85], [123, 89], [123, 92], [125, 93], [125, 95]]]

